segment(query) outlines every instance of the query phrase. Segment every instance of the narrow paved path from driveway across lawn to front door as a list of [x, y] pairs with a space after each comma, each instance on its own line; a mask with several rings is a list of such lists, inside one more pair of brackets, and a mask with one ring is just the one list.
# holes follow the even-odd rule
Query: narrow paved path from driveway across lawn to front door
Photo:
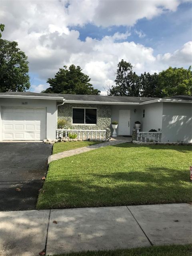
[[[91, 145], [91, 146], [86, 146], [86, 147], [82, 147], [82, 148], [75, 148], [75, 149], [67, 150], [67, 151], [64, 151], [64, 152], [60, 152], [58, 154], [54, 154], [54, 155], [49, 156], [48, 164], [50, 162], [54, 161], [54, 160], [59, 160], [61, 158], [65, 158], [67, 156], [74, 156], [74, 155], [81, 154], [81, 153], [84, 153], [84, 152], [87, 152], [87, 151], [90, 151], [90, 150], [94, 150], [94, 149], [97, 149], [97, 148], [103, 148], [103, 147], [106, 147], [106, 146], [114, 146], [114, 145], [122, 144], [122, 143], [125, 143], [125, 142], [131, 142], [131, 140], [132, 140], [132, 138], [126, 138], [126, 140], [112, 140], [110, 142], [103, 142], [103, 143], [100, 143], [100, 144], [94, 144], [94, 145]], [[70, 142], [70, 143], [75, 143], [75, 142]]]

